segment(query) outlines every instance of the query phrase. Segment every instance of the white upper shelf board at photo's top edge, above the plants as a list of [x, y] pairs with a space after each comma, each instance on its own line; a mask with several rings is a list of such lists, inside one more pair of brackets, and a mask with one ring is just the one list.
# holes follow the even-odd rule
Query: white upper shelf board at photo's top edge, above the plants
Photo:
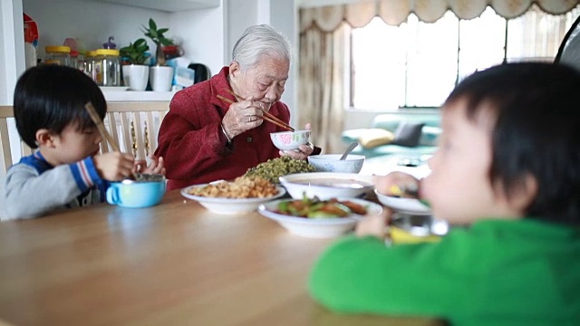
[[140, 8], [155, 9], [169, 13], [184, 10], [206, 9], [219, 6], [219, 0], [92, 0], [118, 5], [131, 5]]

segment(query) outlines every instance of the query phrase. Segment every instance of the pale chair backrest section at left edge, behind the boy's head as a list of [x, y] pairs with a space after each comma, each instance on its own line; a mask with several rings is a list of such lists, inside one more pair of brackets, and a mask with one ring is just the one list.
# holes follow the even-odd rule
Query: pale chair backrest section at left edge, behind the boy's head
[[[20, 156], [27, 156], [32, 154], [32, 149], [20, 140], [18, 132], [11, 128], [14, 124], [14, 109], [12, 106], [0, 106], [0, 149], [2, 149], [2, 156], [0, 161], [0, 176], [4, 176], [8, 168], [10, 168], [19, 156], [13, 156], [14, 153], [20, 153]], [[18, 148], [19, 149], [14, 149]]]

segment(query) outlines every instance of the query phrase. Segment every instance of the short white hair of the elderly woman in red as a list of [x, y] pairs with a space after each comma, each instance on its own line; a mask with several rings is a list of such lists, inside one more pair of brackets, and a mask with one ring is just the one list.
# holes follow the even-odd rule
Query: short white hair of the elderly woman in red
[[262, 55], [291, 62], [292, 45], [284, 34], [275, 31], [270, 25], [250, 26], [234, 45], [232, 60], [239, 63], [240, 68], [244, 70], [254, 67]]

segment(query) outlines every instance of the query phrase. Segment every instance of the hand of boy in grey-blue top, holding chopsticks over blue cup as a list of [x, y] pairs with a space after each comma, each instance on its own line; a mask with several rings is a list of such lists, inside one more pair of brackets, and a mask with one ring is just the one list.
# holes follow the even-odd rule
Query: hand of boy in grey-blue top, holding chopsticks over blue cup
[[118, 181], [130, 177], [134, 160], [131, 154], [120, 152], [105, 153], [92, 158], [99, 176], [109, 181]]

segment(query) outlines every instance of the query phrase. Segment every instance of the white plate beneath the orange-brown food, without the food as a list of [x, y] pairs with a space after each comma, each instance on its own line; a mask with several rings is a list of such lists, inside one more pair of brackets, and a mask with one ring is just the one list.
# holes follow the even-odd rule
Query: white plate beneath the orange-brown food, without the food
[[283, 197], [286, 193], [284, 187], [276, 186], [278, 194], [273, 197], [264, 198], [218, 198], [203, 197], [189, 194], [189, 189], [193, 187], [205, 187], [208, 184], [194, 185], [181, 189], [181, 196], [197, 201], [201, 206], [208, 208], [209, 211], [218, 214], [245, 214], [254, 212], [260, 204], [264, 204], [275, 198]]

